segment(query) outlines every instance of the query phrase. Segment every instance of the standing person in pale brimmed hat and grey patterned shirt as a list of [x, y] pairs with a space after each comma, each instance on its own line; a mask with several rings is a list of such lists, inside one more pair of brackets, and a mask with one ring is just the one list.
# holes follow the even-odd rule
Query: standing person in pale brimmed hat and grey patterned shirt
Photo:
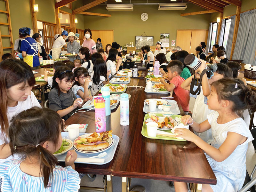
[[76, 53], [76, 56], [69, 56], [69, 60], [74, 62], [74, 60], [79, 59], [78, 54], [79, 54], [79, 49], [81, 48], [81, 45], [75, 41], [75, 34], [73, 32], [70, 32], [68, 34], [68, 39], [69, 42], [67, 43], [67, 51], [68, 53]]

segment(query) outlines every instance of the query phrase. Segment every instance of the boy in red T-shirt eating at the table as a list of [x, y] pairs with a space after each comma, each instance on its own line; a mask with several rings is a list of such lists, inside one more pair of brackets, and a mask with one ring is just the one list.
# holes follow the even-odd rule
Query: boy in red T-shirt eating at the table
[[168, 79], [170, 79], [170, 83], [166, 83], [164, 78], [161, 78], [160, 82], [164, 84], [165, 89], [175, 93], [185, 115], [188, 115], [189, 91], [180, 87], [183, 81], [185, 81], [185, 79], [180, 76], [180, 73], [183, 70], [183, 64], [179, 60], [173, 60], [167, 65], [166, 69], [168, 71], [167, 76]]

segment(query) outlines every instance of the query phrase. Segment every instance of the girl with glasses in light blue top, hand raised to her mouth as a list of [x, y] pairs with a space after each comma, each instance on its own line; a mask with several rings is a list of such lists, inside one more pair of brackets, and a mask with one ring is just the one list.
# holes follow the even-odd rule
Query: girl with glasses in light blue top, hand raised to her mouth
[[90, 80], [90, 75], [86, 68], [80, 67], [74, 70], [75, 83], [71, 90], [74, 92], [77, 98], [85, 99], [89, 96], [88, 85]]

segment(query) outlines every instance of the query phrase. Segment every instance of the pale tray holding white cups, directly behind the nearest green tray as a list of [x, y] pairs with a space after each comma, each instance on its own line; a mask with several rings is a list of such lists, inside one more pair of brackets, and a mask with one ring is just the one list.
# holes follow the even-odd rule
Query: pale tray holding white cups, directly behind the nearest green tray
[[144, 113], [161, 113], [164, 115], [178, 115], [180, 114], [180, 109], [175, 100], [165, 100], [167, 102], [166, 105], [157, 106], [155, 111], [149, 110], [149, 105], [144, 102], [143, 112]]

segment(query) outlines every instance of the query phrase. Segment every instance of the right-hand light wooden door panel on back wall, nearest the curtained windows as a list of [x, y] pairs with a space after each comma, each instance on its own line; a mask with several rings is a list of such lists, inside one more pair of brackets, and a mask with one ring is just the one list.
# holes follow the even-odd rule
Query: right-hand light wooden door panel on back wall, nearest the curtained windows
[[196, 55], [196, 47], [199, 46], [200, 42], [207, 43], [208, 30], [192, 30], [190, 52]]

